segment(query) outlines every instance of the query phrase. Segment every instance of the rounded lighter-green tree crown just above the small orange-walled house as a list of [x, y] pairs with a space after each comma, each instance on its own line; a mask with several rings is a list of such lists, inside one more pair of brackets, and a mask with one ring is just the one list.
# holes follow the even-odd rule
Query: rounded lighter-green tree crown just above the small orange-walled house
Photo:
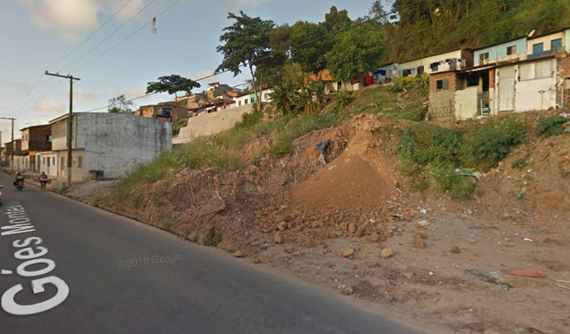
[[333, 43], [325, 59], [331, 74], [339, 81], [348, 82], [354, 75], [374, 70], [385, 50], [384, 32], [376, 21], [340, 32]]

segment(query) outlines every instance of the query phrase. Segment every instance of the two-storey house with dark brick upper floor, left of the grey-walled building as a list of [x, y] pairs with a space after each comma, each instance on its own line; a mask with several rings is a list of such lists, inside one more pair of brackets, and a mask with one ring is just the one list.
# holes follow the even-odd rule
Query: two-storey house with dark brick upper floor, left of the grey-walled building
[[22, 170], [26, 172], [39, 172], [39, 161], [36, 154], [51, 150], [51, 125], [35, 125], [21, 130], [22, 132], [22, 154], [24, 164]]

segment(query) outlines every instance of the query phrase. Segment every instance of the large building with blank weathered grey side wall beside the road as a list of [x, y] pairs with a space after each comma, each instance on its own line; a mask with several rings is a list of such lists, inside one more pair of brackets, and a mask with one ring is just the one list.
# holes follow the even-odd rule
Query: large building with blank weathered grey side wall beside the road
[[[63, 115], [52, 121], [52, 152], [57, 157], [57, 176], [67, 178], [67, 120]], [[172, 148], [172, 123], [139, 117], [131, 113], [74, 113], [72, 132], [72, 181], [92, 177], [120, 178], [136, 166], [152, 161], [163, 150]], [[42, 162], [43, 162], [42, 156]], [[54, 172], [50, 171], [53, 175]]]

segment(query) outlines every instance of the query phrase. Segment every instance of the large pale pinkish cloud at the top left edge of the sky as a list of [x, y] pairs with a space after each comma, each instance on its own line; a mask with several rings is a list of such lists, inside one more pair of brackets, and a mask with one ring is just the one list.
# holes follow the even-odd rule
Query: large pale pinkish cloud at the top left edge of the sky
[[80, 33], [95, 30], [101, 5], [97, 0], [19, 0], [30, 12], [34, 26], [55, 30], [66, 40], [80, 40]]

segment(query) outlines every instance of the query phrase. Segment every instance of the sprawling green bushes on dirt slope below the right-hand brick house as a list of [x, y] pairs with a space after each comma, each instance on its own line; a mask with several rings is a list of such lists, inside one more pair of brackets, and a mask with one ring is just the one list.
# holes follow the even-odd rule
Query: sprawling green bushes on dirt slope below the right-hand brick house
[[451, 198], [463, 199], [475, 193], [475, 184], [455, 170], [469, 167], [484, 172], [493, 168], [526, 136], [526, 125], [515, 117], [498, 124], [472, 122], [461, 131], [414, 123], [404, 129], [397, 150], [403, 173], [429, 177]]

